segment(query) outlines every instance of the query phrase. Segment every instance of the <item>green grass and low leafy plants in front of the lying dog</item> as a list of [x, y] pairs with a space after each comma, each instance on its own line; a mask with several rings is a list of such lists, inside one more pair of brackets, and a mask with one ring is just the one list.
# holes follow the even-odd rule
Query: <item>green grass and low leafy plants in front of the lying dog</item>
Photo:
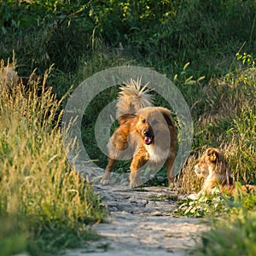
[[232, 196], [201, 195], [197, 200], [179, 201], [175, 216], [207, 218], [209, 230], [196, 235], [196, 246], [189, 255], [254, 255], [256, 229], [256, 194], [241, 192], [236, 183]]

